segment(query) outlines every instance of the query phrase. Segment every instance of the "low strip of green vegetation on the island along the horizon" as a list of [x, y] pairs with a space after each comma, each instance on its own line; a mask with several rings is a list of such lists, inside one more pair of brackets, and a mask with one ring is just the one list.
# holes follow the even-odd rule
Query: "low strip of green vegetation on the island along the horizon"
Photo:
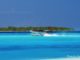
[[0, 28], [0, 31], [2, 32], [27, 32], [30, 30], [38, 31], [38, 30], [49, 30], [49, 31], [72, 31], [72, 28], [66, 28], [66, 27], [2, 27]]

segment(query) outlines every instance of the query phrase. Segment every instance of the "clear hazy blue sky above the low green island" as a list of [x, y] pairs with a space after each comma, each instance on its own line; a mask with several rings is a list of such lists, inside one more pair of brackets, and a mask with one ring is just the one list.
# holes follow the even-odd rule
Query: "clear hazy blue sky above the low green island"
[[80, 30], [80, 0], [0, 0], [0, 27], [6, 26]]

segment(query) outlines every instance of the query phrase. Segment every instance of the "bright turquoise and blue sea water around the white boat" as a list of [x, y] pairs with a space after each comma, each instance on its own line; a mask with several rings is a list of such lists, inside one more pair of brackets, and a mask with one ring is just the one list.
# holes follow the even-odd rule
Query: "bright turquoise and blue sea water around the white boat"
[[[56, 33], [58, 34], [58, 33]], [[80, 32], [64, 36], [0, 33], [0, 60], [35, 60], [80, 56]]]

